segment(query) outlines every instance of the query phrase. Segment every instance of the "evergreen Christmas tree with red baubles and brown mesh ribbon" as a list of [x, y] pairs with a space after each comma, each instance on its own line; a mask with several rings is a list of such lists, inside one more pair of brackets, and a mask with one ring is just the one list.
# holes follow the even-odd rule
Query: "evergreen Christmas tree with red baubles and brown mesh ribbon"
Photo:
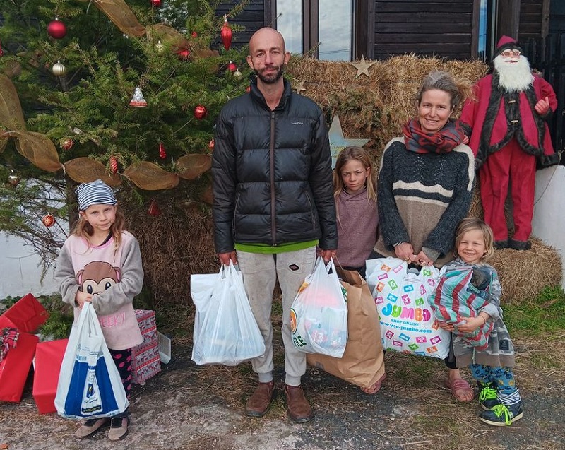
[[229, 21], [246, 4], [222, 17], [204, 0], [3, 2], [0, 230], [49, 264], [73, 189], [97, 178], [148, 217], [174, 213], [162, 199], [206, 209], [215, 117], [249, 84]]

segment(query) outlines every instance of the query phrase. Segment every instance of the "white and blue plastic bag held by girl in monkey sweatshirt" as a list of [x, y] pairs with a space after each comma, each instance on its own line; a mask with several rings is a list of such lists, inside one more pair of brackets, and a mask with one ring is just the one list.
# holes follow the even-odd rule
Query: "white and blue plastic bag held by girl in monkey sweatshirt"
[[94, 307], [85, 302], [66, 346], [55, 408], [68, 419], [103, 418], [129, 406]]

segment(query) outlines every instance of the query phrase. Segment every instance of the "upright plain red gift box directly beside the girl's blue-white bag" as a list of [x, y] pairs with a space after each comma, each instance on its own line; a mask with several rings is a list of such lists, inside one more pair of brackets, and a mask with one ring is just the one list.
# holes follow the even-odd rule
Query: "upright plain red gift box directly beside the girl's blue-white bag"
[[45, 341], [35, 348], [33, 398], [40, 414], [55, 413], [55, 394], [59, 383], [61, 362], [69, 339]]

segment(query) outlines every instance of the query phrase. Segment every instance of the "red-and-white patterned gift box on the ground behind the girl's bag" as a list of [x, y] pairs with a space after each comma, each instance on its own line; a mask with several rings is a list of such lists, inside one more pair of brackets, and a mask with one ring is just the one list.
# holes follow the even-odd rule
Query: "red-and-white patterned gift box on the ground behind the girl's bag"
[[161, 372], [155, 311], [136, 309], [143, 342], [131, 349], [131, 381], [142, 384]]

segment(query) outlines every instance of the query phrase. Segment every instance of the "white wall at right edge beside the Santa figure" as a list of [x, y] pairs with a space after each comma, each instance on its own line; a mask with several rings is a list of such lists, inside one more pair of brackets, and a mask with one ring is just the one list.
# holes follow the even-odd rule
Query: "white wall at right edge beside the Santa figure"
[[538, 170], [535, 176], [535, 205], [532, 234], [561, 254], [565, 289], [565, 166]]

